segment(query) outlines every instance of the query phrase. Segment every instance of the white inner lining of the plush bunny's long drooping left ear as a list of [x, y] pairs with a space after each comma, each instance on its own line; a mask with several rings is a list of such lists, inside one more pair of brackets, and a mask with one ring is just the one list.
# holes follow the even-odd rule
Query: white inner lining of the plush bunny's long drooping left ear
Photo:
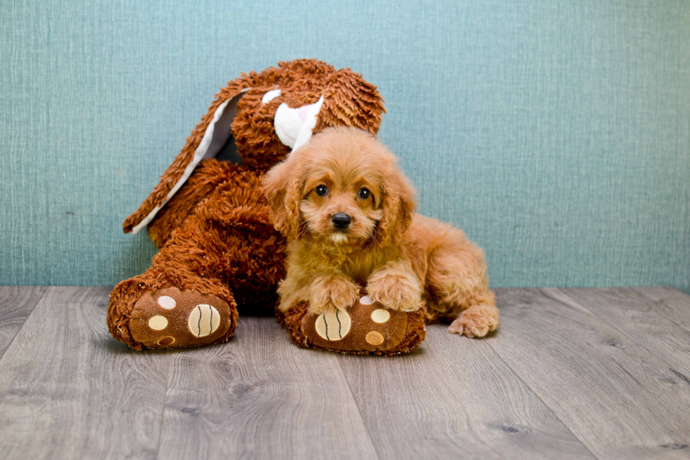
[[[192, 158], [192, 161], [189, 162], [187, 168], [184, 168], [184, 173], [182, 173], [180, 179], [178, 179], [177, 183], [175, 183], [175, 187], [170, 189], [170, 192], [168, 192], [168, 194], [165, 196], [163, 202], [159, 206], [153, 208], [148, 216], [146, 216], [141, 222], [132, 228], [132, 233], [134, 235], [142, 231], [142, 228], [151, 223], [151, 220], [156, 217], [158, 211], [161, 211], [161, 208], [165, 206], [168, 201], [170, 201], [175, 193], [177, 193], [177, 190], [184, 185], [184, 182], [187, 182], [187, 179], [189, 179], [189, 176], [192, 175], [192, 172], [194, 171], [194, 168], [196, 168], [196, 165], [199, 164], [199, 161], [205, 158], [215, 157], [220, 149], [222, 149], [222, 146], [225, 145], [227, 139], [230, 138], [230, 123], [232, 123], [232, 120], [237, 115], [237, 102], [239, 102], [239, 99], [242, 99], [244, 93], [249, 91], [249, 89], [251, 88], [242, 89], [237, 96], [227, 99], [227, 101], [223, 102], [220, 104], [220, 106], [218, 106], [218, 108], [215, 109], [215, 113], [213, 113], [213, 120], [211, 120], [211, 123], [208, 123], [208, 128], [206, 128], [206, 132], [203, 133], [201, 142], [199, 142], [199, 147], [196, 147], [196, 150], [194, 150], [194, 158]], [[216, 124], [218, 124], [219, 129], [218, 135], [216, 136], [217, 138], [214, 138], [213, 133], [216, 132]]]

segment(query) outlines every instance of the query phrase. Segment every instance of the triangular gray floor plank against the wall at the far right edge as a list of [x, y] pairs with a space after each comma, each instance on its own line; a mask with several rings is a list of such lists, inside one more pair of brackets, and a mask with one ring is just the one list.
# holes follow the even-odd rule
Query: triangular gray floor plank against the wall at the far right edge
[[[666, 364], [663, 383], [690, 383], [690, 296], [680, 291], [649, 288], [607, 287], [544, 289], [544, 294], [559, 302], [577, 303], [601, 317], [611, 327], [625, 334]], [[665, 301], [651, 299], [653, 292]], [[680, 295], [678, 295], [680, 294]], [[610, 347], [620, 343], [610, 342]], [[687, 383], [686, 383], [687, 382]], [[689, 452], [690, 456], [690, 452]]]

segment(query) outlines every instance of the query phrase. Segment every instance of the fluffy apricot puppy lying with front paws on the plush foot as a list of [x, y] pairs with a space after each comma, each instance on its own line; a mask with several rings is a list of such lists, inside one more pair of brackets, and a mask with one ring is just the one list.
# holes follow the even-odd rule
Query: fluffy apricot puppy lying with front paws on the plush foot
[[449, 332], [498, 327], [484, 254], [451, 225], [415, 214], [397, 158], [368, 132], [330, 128], [263, 179], [275, 228], [289, 239], [281, 311], [348, 309], [360, 285], [389, 309], [426, 307]]

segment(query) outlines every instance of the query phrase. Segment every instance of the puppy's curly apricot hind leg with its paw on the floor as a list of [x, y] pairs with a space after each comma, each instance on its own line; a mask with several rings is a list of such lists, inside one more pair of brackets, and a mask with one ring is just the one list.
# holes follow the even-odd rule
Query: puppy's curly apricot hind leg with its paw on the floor
[[448, 331], [484, 337], [498, 328], [498, 309], [489, 290], [482, 249], [449, 228], [429, 254], [429, 315], [453, 321]]

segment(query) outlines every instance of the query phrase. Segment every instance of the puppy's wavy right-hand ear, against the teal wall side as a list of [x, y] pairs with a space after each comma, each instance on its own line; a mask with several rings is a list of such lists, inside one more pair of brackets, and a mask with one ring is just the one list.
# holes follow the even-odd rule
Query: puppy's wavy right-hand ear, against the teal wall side
[[383, 217], [377, 225], [376, 238], [385, 247], [400, 242], [417, 208], [415, 189], [397, 168], [384, 178], [382, 207]]

